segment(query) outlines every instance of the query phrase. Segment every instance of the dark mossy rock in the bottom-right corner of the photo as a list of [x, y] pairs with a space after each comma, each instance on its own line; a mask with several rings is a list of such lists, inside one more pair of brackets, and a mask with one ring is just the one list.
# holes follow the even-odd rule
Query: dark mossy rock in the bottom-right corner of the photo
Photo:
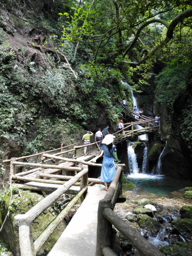
[[170, 244], [159, 249], [165, 255], [170, 256], [191, 256], [192, 245], [186, 242], [177, 242], [177, 244]]

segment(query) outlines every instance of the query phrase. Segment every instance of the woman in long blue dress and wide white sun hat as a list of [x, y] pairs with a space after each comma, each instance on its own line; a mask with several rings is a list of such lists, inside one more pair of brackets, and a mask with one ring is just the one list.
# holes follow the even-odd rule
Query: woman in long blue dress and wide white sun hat
[[113, 152], [116, 152], [117, 150], [113, 145], [113, 138], [115, 138], [115, 136], [112, 134], [107, 134], [102, 141], [104, 157], [101, 168], [101, 181], [105, 184], [105, 191], [108, 190], [107, 183], [112, 182], [116, 172]]

